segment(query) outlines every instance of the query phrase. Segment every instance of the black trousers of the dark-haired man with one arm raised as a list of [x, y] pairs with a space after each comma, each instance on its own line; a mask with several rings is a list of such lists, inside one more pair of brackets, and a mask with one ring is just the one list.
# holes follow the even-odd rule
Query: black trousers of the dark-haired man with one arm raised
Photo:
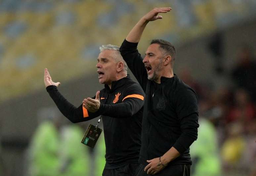
[[[144, 171], [146, 166], [140, 164], [136, 170], [135, 176], [149, 176], [147, 172]], [[157, 176], [190, 176], [190, 165], [188, 164], [178, 164], [178, 165], [168, 165], [160, 172], [156, 173]]]

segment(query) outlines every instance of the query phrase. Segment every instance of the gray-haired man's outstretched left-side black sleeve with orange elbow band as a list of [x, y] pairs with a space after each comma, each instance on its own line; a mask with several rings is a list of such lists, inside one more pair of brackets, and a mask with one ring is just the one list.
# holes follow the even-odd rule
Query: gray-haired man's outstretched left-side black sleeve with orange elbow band
[[46, 90], [61, 113], [72, 123], [88, 121], [100, 115], [97, 112], [91, 113], [87, 111], [82, 104], [79, 107], [75, 107], [64, 98], [56, 86], [48, 86]]

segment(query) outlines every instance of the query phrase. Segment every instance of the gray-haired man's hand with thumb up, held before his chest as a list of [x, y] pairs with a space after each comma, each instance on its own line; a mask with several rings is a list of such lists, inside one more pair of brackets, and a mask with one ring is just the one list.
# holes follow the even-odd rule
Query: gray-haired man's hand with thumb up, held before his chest
[[95, 113], [100, 109], [100, 91], [96, 92], [95, 99], [85, 98], [83, 100], [83, 107], [85, 107], [88, 111]]

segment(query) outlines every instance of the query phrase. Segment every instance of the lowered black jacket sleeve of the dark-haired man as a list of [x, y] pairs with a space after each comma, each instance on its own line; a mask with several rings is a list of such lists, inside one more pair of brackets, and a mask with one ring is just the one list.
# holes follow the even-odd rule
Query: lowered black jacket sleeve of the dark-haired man
[[180, 153], [185, 152], [197, 139], [198, 107], [197, 96], [191, 89], [177, 93], [176, 112], [180, 123], [181, 135], [173, 147]]

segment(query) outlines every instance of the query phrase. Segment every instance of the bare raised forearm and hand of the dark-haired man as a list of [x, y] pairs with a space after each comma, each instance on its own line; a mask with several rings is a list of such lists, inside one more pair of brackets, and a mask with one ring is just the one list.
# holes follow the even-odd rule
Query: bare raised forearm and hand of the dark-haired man
[[139, 22], [132, 28], [130, 33], [127, 35], [126, 40], [132, 43], [138, 43], [141, 39], [142, 33], [149, 21], [156, 19], [162, 19], [163, 17], [158, 15], [159, 13], [167, 13], [171, 10], [170, 7], [154, 8], [145, 16], [143, 16]]

